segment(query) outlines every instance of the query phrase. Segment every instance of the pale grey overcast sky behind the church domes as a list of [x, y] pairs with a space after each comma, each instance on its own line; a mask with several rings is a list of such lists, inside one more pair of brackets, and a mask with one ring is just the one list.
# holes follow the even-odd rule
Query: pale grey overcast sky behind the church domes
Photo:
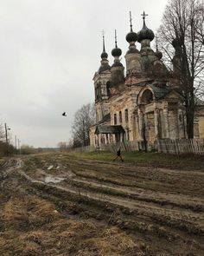
[[74, 113], [94, 102], [101, 31], [112, 64], [117, 29], [124, 63], [129, 11], [134, 31], [142, 29], [144, 10], [147, 26], [156, 32], [167, 2], [0, 0], [0, 122], [11, 128], [10, 138], [16, 135], [21, 144], [34, 147], [68, 141]]

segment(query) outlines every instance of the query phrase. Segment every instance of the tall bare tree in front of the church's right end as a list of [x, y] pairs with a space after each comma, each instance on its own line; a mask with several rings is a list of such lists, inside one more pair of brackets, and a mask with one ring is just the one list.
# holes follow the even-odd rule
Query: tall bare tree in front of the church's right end
[[[201, 0], [170, 0], [158, 30], [166, 59], [182, 89], [188, 138], [194, 137], [194, 108], [203, 95], [204, 5]], [[175, 50], [174, 50], [175, 49]]]

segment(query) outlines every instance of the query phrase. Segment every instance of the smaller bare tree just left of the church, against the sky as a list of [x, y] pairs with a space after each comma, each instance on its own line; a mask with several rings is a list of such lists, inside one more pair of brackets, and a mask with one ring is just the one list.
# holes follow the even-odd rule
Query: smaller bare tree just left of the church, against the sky
[[94, 104], [83, 105], [74, 115], [72, 126], [73, 147], [88, 146], [90, 144], [89, 128], [95, 123]]

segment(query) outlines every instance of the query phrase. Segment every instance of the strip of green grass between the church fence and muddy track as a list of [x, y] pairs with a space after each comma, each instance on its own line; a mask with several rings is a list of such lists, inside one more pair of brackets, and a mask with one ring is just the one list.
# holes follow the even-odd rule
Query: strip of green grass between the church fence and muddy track
[[[112, 161], [115, 154], [107, 151], [94, 151], [83, 153], [68, 153], [74, 158], [86, 158], [89, 160]], [[141, 166], [168, 167], [175, 169], [201, 170], [204, 169], [204, 157], [194, 154], [163, 154], [157, 152], [122, 152], [124, 162], [130, 162]], [[117, 160], [120, 161], [120, 160]]]

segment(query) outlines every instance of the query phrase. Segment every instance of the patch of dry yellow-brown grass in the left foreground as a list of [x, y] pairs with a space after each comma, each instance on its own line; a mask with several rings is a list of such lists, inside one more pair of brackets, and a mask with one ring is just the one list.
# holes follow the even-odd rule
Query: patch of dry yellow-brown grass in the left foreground
[[34, 195], [12, 196], [0, 209], [0, 221], [3, 256], [143, 255], [136, 241], [118, 228], [69, 220]]

